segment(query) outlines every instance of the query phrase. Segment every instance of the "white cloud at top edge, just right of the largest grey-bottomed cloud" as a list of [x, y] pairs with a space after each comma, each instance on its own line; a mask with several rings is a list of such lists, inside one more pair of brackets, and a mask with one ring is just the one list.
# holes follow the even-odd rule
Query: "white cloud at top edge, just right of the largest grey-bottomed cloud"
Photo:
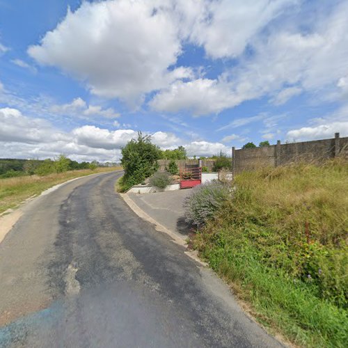
[[203, 16], [193, 26], [191, 40], [213, 58], [239, 56], [272, 19], [296, 0], [207, 1]]

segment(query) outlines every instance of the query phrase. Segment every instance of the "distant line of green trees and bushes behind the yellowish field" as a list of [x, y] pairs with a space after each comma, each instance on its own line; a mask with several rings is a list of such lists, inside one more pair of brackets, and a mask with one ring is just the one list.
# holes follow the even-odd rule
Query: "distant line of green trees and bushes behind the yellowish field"
[[94, 170], [100, 166], [111, 166], [111, 163], [100, 164], [97, 161], [73, 161], [65, 155], [56, 159], [0, 159], [0, 178], [17, 177], [22, 175], [49, 175], [80, 169]]

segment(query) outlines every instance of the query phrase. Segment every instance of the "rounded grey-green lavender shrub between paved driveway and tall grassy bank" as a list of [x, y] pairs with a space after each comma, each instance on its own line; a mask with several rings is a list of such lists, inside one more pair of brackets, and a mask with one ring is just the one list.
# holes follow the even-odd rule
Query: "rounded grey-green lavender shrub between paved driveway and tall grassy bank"
[[230, 187], [217, 180], [195, 187], [184, 200], [185, 221], [197, 226], [212, 219], [230, 198]]

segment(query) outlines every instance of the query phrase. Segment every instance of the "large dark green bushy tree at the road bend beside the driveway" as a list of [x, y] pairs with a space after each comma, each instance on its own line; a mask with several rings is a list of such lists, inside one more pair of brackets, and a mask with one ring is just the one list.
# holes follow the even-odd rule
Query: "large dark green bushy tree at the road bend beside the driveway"
[[141, 184], [158, 169], [160, 150], [157, 145], [151, 143], [151, 136], [143, 136], [138, 132], [138, 139], [128, 141], [121, 152], [121, 164], [125, 170], [121, 183], [124, 190]]

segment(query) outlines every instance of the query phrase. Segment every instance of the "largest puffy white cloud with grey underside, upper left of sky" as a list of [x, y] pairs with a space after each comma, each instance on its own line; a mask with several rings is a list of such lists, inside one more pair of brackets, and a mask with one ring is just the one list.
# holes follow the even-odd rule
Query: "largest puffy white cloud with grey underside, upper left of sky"
[[84, 2], [46, 33], [29, 55], [87, 82], [92, 93], [129, 103], [144, 93], [190, 77], [169, 71], [181, 52], [178, 29], [161, 1]]

